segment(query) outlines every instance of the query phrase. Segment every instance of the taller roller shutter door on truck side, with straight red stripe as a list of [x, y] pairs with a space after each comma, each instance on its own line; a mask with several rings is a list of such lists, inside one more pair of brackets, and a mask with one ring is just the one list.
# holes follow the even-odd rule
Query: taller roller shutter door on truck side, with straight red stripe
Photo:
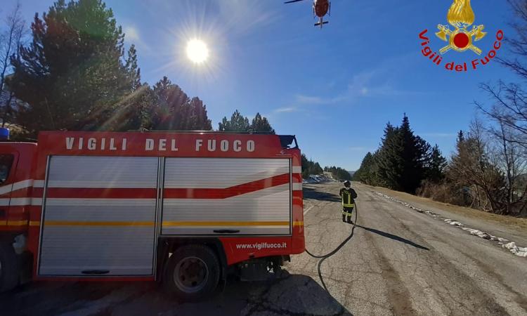
[[157, 165], [51, 157], [39, 275], [152, 275]]

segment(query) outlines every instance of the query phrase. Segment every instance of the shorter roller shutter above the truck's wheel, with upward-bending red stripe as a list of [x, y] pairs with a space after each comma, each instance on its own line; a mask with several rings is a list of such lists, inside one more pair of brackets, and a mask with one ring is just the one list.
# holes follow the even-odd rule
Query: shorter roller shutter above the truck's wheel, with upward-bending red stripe
[[167, 158], [162, 235], [289, 235], [289, 159]]

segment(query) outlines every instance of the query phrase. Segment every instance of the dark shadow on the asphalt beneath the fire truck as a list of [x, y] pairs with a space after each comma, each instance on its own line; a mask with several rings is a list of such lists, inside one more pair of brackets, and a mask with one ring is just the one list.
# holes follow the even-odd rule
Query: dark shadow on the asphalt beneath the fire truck
[[35, 282], [0, 294], [0, 315], [351, 315], [306, 275], [230, 280], [200, 303], [178, 303], [155, 282]]

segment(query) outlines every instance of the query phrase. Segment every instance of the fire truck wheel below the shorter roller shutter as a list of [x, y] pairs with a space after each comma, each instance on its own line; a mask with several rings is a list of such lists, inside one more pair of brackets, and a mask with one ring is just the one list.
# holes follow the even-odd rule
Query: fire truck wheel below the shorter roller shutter
[[195, 301], [211, 294], [219, 282], [220, 263], [207, 246], [192, 244], [174, 251], [164, 274], [164, 285], [177, 298]]

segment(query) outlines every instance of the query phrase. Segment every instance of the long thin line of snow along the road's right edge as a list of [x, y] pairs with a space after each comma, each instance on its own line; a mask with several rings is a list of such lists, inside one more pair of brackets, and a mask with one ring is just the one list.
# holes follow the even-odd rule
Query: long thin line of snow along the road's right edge
[[519, 256], [519, 257], [527, 258], [527, 247], [516, 246], [516, 243], [515, 242], [510, 242], [509, 239], [505, 239], [503, 237], [496, 237], [496, 236], [490, 235], [488, 232], [483, 232], [481, 230], [476, 230], [474, 228], [468, 228], [464, 224], [460, 223], [457, 220], [453, 220], [451, 218], [443, 218], [438, 213], [434, 213], [432, 211], [427, 211], [427, 210], [424, 210], [424, 209], [419, 209], [418, 207], [415, 207], [415, 206], [413, 206], [410, 203], [400, 201], [400, 200], [396, 199], [395, 197], [390, 197], [389, 195], [385, 195], [384, 193], [381, 193], [381, 192], [375, 192], [375, 193], [377, 195], [380, 195], [381, 197], [384, 197], [386, 199], [390, 199], [393, 202], [397, 202], [398, 204], [403, 204], [404, 206], [407, 206], [410, 209], [413, 209], [413, 210], [415, 210], [415, 211], [417, 211], [419, 213], [427, 214], [429, 216], [434, 217], [435, 219], [442, 219], [444, 223], [448, 223], [448, 224], [453, 225], [453, 226], [455, 226], [457, 228], [461, 228], [462, 230], [465, 230], [465, 231], [469, 232], [470, 235], [477, 236], [477, 237], [480, 237], [480, 238], [483, 238], [483, 239], [487, 239], [487, 240], [495, 241], [495, 242], [497, 242], [497, 244], [500, 244], [502, 246], [502, 248], [508, 249], [510, 252], [512, 252], [512, 254], [514, 254], [516, 256]]

